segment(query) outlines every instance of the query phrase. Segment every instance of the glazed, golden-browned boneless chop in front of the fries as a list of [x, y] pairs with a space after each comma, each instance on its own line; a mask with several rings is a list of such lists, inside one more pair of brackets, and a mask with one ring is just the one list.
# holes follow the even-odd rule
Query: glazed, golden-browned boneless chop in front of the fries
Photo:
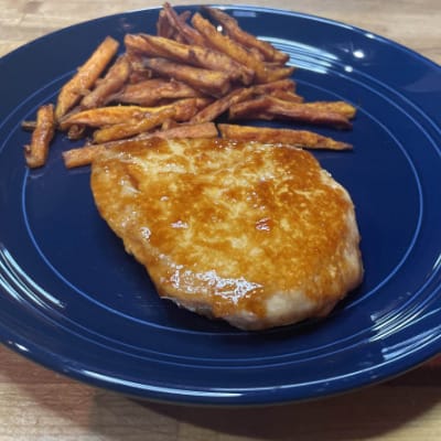
[[324, 316], [361, 283], [351, 197], [306, 151], [128, 141], [94, 161], [92, 190], [161, 297], [237, 327]]

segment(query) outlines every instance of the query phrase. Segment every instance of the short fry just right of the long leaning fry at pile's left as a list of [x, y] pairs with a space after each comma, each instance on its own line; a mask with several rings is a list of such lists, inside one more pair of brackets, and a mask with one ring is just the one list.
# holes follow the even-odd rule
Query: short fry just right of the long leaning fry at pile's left
[[129, 75], [130, 63], [127, 56], [121, 55], [95, 89], [82, 99], [80, 107], [92, 109], [103, 106], [111, 94], [115, 94], [122, 87]]

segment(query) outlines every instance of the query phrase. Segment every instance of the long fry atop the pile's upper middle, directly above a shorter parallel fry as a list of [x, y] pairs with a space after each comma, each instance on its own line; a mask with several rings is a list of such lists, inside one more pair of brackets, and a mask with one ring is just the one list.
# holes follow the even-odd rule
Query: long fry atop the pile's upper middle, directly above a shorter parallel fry
[[252, 82], [255, 75], [252, 69], [237, 63], [222, 52], [196, 44], [182, 44], [160, 36], [148, 34], [142, 34], [141, 36], [159, 54], [165, 54], [168, 58], [212, 71], [225, 72], [232, 80], [240, 80], [245, 85], [249, 85]]

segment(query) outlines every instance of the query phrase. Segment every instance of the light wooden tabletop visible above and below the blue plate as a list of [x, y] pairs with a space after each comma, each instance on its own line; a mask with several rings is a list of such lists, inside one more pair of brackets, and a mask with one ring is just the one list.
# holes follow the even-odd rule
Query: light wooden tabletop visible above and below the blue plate
[[[185, 2], [173, 2], [182, 3]], [[344, 21], [441, 63], [439, 0], [255, 0], [254, 3]], [[0, 0], [0, 56], [69, 24], [159, 4], [141, 0]], [[438, 441], [441, 439], [440, 369], [441, 363], [432, 361], [383, 385], [302, 405], [189, 408], [140, 402], [97, 390], [0, 347], [0, 440]]]

